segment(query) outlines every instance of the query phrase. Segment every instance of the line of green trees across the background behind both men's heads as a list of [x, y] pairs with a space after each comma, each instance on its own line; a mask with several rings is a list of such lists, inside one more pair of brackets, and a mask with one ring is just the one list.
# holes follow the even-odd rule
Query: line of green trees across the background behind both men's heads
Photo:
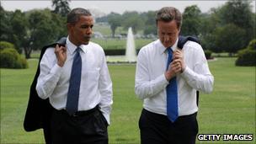
[[[54, 10], [45, 8], [27, 12], [9, 12], [0, 6], [0, 41], [13, 43], [19, 52], [24, 50], [25, 57], [29, 58], [32, 50], [67, 35], [69, 2], [52, 0]], [[196, 5], [189, 6], [182, 13], [181, 35], [195, 35], [203, 48], [232, 55], [255, 39], [256, 14], [251, 3], [229, 0], [219, 8], [211, 8], [208, 13], [202, 13]], [[109, 13], [96, 19], [96, 23], [108, 23], [113, 37], [118, 27], [132, 27], [135, 34], [142, 30], [144, 35], [157, 35], [155, 15], [156, 11]]]

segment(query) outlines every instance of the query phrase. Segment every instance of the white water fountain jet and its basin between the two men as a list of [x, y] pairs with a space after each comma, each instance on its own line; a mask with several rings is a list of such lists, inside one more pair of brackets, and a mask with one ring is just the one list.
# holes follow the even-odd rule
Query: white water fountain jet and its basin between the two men
[[106, 56], [111, 63], [134, 63], [136, 62], [136, 48], [131, 27], [128, 29], [125, 56]]

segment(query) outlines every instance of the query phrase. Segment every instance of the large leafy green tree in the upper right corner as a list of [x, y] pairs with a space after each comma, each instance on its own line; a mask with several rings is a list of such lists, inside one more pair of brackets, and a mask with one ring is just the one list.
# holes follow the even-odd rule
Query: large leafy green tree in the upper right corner
[[[229, 45], [232, 40], [238, 39], [235, 38], [237, 35], [227, 35], [231, 34], [230, 32], [224, 33], [224, 31], [230, 31], [227, 29], [228, 27], [232, 29], [236, 27], [237, 29], [233, 33], [241, 32], [243, 34], [243, 38], [239, 38], [240, 44], [236, 46], [237, 48], [233, 47], [233, 50], [237, 51], [236, 49], [246, 47], [248, 41], [252, 40], [253, 35], [255, 35], [255, 13], [252, 13], [250, 3], [251, 1], [229, 0], [223, 6], [211, 8], [209, 14], [203, 15], [200, 28], [200, 40], [203, 47], [215, 52], [227, 51], [225, 47], [220, 47], [220, 45]], [[220, 33], [224, 34], [220, 35]], [[220, 36], [224, 35], [229, 39], [222, 40], [223, 44], [220, 44]]]

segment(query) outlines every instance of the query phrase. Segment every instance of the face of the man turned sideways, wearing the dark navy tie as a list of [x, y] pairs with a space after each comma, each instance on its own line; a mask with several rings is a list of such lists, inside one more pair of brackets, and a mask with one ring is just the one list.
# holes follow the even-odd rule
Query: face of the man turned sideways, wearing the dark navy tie
[[69, 24], [68, 29], [75, 45], [87, 45], [93, 34], [93, 17], [82, 15], [76, 24]]

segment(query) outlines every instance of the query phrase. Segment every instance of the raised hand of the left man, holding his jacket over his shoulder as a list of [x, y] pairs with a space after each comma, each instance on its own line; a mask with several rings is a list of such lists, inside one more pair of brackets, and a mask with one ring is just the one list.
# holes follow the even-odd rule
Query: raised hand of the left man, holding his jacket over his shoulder
[[67, 60], [67, 48], [65, 46], [56, 45], [55, 55], [57, 57], [57, 64], [63, 67], [65, 61]]

